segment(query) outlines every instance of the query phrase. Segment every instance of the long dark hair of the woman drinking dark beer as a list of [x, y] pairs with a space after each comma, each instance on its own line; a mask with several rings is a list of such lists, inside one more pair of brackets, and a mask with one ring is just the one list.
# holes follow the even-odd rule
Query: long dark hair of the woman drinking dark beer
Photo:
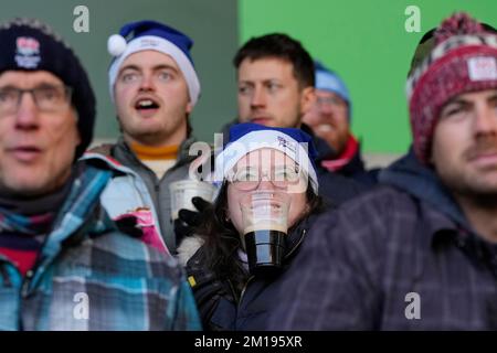
[[[221, 186], [218, 199], [211, 210], [208, 211], [209, 216], [203, 217], [204, 221], [199, 227], [198, 234], [204, 238], [207, 266], [216, 274], [218, 278], [230, 280], [237, 297], [248, 277], [248, 272], [239, 258], [240, 234], [228, 220], [228, 185], [229, 183], [224, 182]], [[288, 229], [288, 233], [309, 214], [322, 211], [322, 200], [316, 195], [310, 184], [307, 188], [306, 197], [308, 207], [294, 226]]]

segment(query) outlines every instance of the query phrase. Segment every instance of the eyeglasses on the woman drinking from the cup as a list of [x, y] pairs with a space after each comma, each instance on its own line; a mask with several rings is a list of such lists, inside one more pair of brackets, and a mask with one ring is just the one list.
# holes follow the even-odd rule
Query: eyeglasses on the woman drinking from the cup
[[287, 189], [297, 184], [304, 173], [295, 165], [276, 167], [269, 171], [261, 172], [258, 168], [242, 168], [228, 176], [228, 181], [240, 191], [253, 191], [258, 188], [265, 176], [276, 189]]

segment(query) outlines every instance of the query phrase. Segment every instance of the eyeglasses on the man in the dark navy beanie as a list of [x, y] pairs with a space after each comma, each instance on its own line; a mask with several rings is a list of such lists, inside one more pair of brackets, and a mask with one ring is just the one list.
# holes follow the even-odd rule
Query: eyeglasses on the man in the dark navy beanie
[[67, 109], [72, 88], [62, 85], [42, 85], [31, 89], [0, 88], [0, 115], [6, 116], [18, 113], [24, 93], [31, 94], [40, 111], [57, 113]]

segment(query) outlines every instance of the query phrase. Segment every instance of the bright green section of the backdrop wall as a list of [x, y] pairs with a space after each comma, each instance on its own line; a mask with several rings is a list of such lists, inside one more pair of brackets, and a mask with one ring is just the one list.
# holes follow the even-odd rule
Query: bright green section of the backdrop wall
[[[300, 40], [336, 69], [352, 96], [352, 128], [368, 152], [403, 152], [410, 130], [405, 77], [422, 34], [455, 10], [497, 26], [495, 0], [240, 0], [240, 41], [268, 32]], [[421, 33], [405, 31], [408, 6]]]

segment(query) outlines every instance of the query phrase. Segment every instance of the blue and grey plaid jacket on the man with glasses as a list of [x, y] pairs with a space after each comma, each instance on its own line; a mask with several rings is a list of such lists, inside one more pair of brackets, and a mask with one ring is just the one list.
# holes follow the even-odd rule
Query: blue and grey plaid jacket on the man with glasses
[[24, 278], [0, 257], [0, 330], [201, 329], [177, 261], [119, 233], [101, 207], [109, 178], [85, 168]]

